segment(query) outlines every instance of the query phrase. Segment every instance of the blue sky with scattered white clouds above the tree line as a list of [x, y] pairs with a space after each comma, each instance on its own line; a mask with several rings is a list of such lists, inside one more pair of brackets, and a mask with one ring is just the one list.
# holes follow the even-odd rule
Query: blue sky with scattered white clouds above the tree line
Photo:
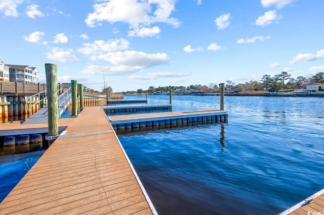
[[0, 59], [114, 92], [324, 72], [322, 0], [0, 0]]

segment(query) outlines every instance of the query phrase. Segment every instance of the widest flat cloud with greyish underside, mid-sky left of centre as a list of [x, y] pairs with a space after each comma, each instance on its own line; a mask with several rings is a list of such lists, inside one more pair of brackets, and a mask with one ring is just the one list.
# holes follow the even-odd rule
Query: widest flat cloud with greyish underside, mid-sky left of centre
[[142, 51], [117, 51], [108, 52], [104, 55], [92, 56], [91, 60], [104, 60], [113, 65], [124, 65], [136, 68], [149, 68], [169, 62], [166, 53], [148, 54]]

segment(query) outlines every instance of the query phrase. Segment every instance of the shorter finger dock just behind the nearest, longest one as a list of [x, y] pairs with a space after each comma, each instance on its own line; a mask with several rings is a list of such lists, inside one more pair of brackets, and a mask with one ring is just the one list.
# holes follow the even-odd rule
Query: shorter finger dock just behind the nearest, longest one
[[145, 112], [145, 111], [172, 111], [172, 104], [136, 104], [103, 106], [106, 114]]

